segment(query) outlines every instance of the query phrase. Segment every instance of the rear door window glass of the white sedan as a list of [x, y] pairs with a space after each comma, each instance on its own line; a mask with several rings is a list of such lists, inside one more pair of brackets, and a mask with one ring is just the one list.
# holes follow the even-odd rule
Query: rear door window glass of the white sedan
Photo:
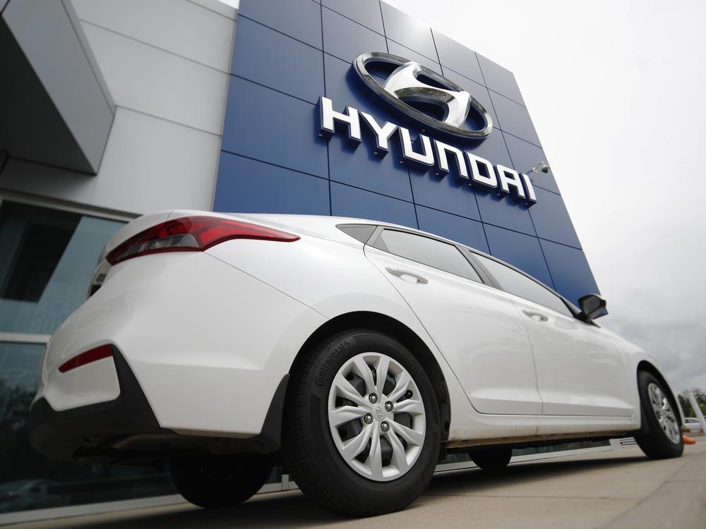
[[378, 250], [421, 262], [423, 265], [438, 268], [444, 272], [482, 282], [458, 248], [436, 239], [405, 231], [385, 230], [373, 246]]

